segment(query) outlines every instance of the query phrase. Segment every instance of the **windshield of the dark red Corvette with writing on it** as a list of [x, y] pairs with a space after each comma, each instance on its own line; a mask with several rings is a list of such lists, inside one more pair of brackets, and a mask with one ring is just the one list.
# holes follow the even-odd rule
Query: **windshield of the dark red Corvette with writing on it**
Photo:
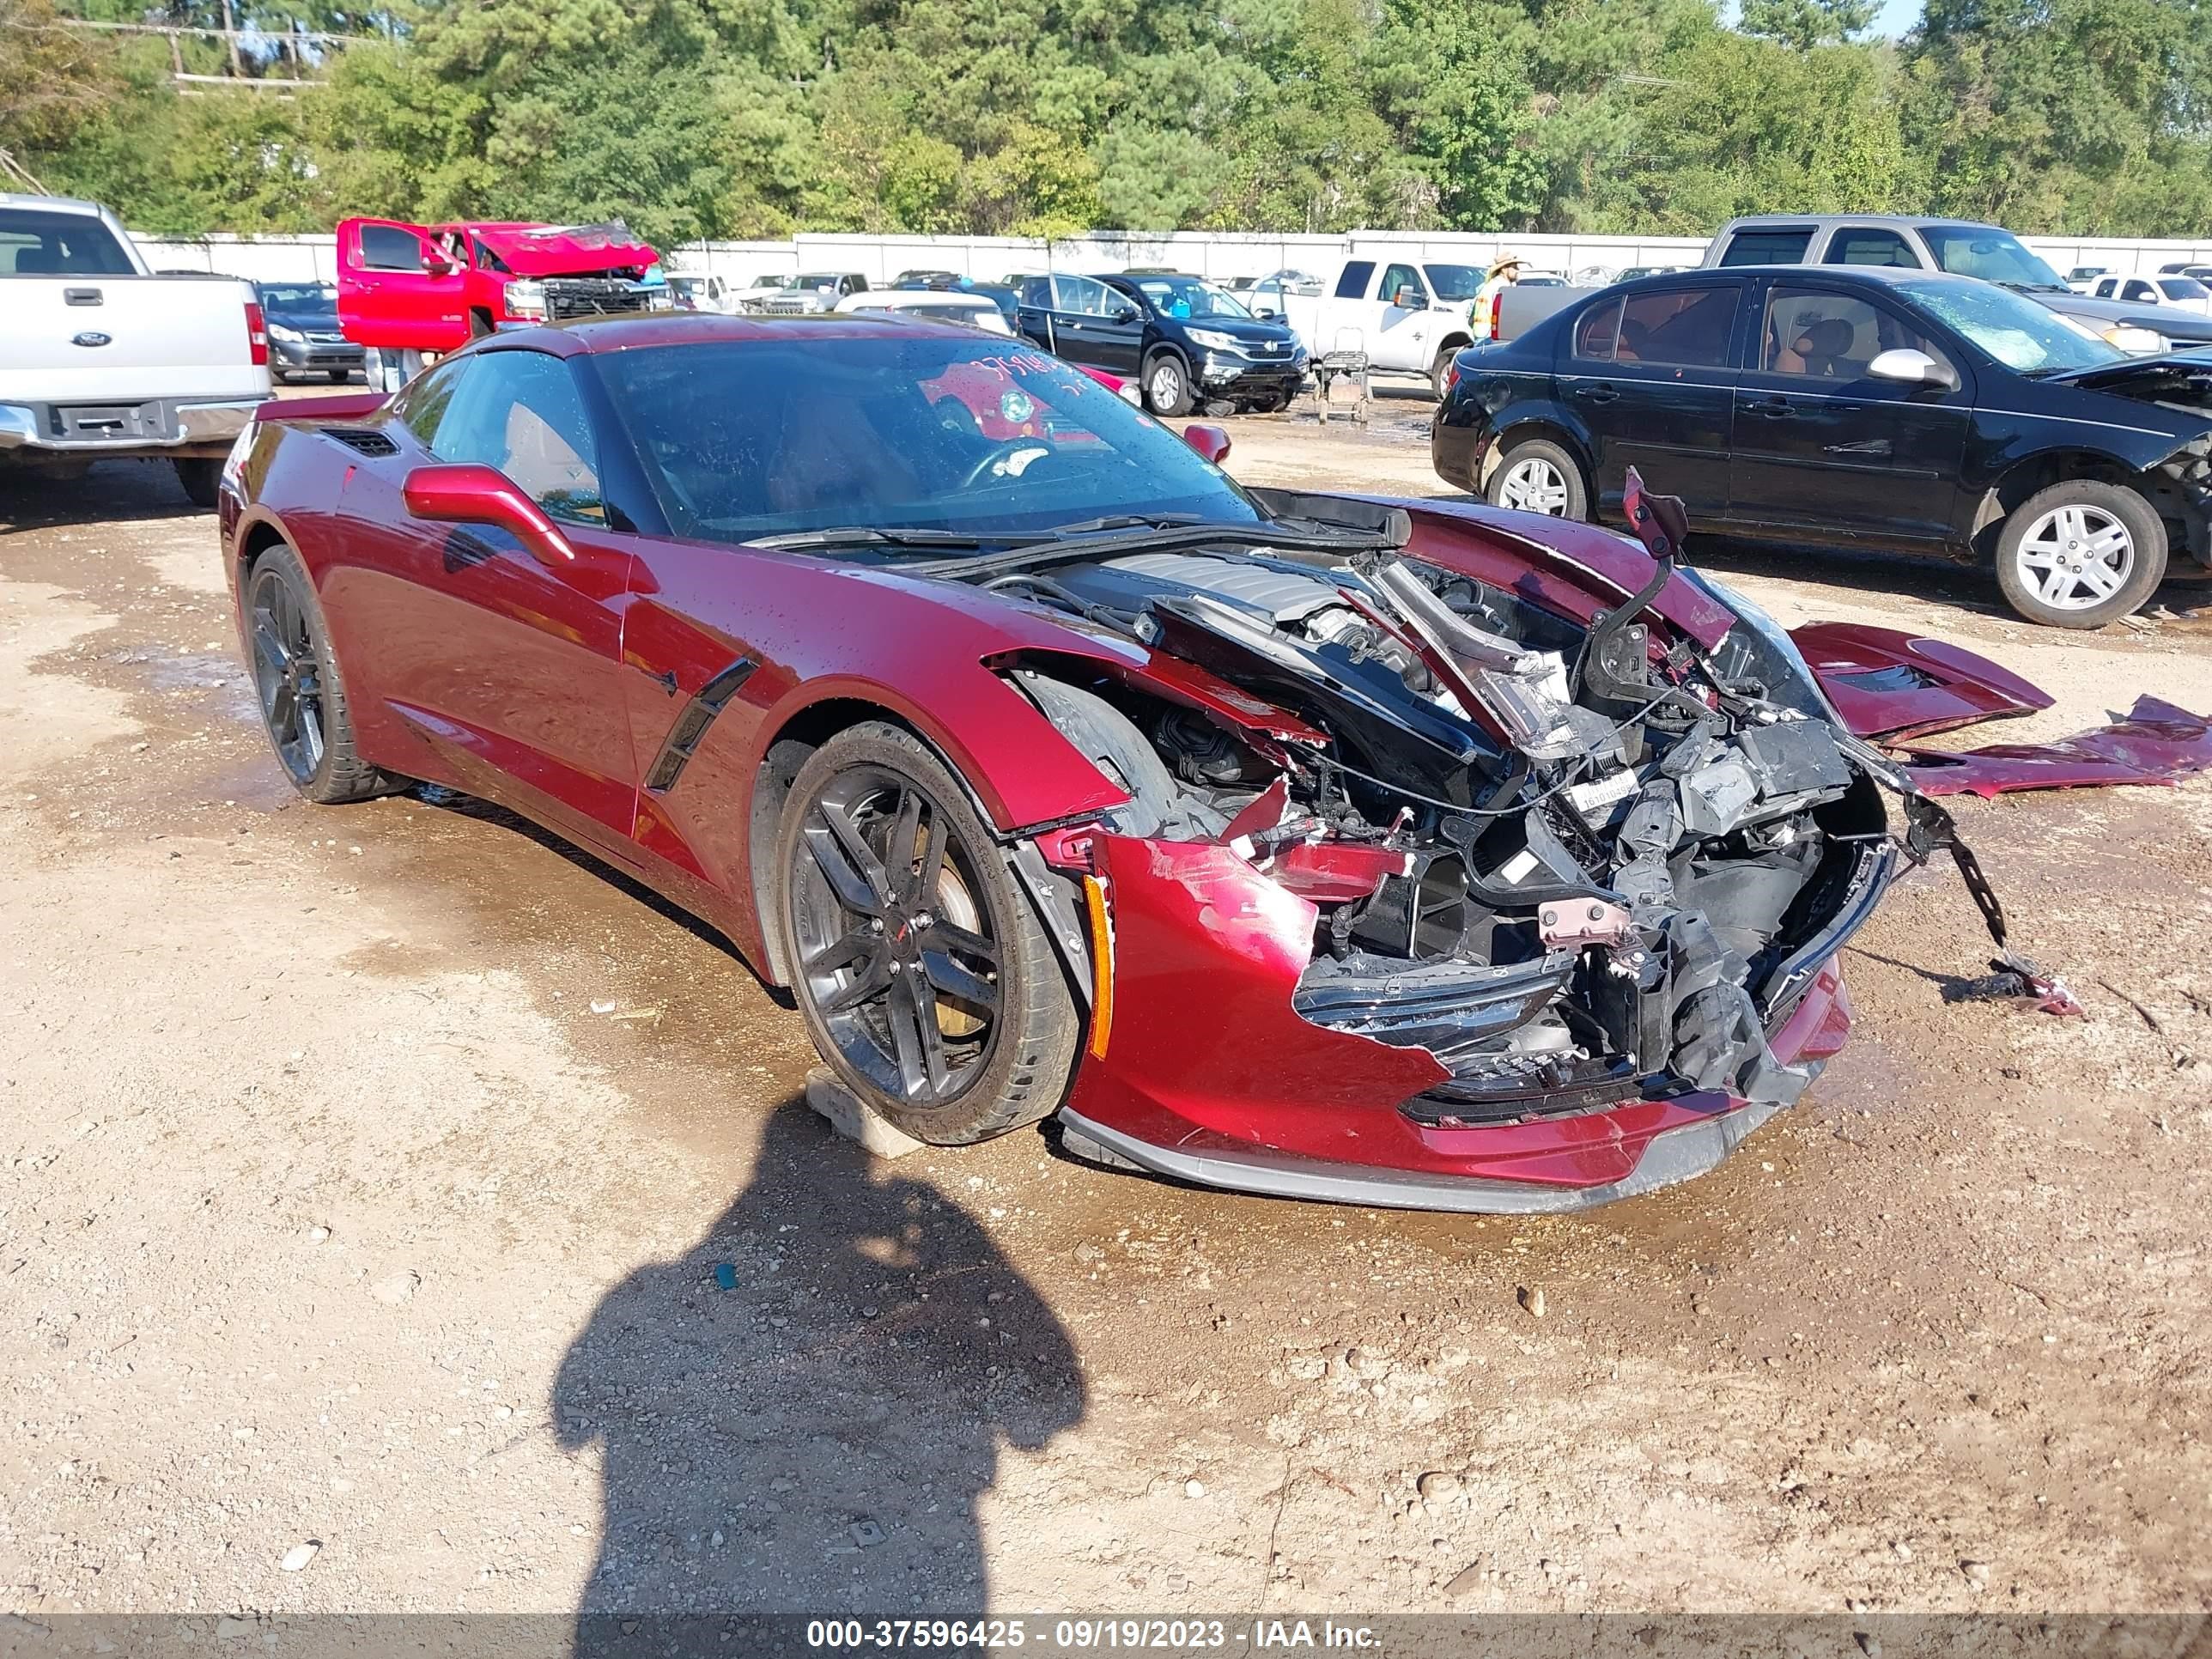
[[989, 544], [1099, 518], [1261, 518], [1097, 380], [989, 336], [701, 341], [588, 363], [692, 540], [867, 526]]

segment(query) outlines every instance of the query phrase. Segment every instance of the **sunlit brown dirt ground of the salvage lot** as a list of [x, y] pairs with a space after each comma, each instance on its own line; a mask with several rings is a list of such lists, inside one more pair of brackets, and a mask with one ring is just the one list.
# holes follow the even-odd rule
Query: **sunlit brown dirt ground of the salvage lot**
[[[1230, 467], [1431, 493], [1425, 414]], [[2181, 588], [2079, 637], [1699, 557], [2057, 692], [1991, 741], [2212, 703]], [[869, 1164], [684, 916], [465, 801], [299, 803], [166, 471], [0, 484], [0, 1608], [2205, 1610], [2212, 781], [1960, 821], [2088, 1018], [1947, 1004], [1986, 942], [1916, 874], [1854, 1046], [1686, 1188]]]

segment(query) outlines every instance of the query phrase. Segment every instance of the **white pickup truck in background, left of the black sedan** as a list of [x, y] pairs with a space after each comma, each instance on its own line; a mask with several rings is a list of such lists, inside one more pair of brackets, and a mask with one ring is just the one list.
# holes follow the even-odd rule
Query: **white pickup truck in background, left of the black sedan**
[[1374, 374], [1418, 374], [1444, 396], [1451, 358], [1473, 343], [1467, 307], [1482, 285], [1478, 265], [1436, 259], [1347, 259], [1321, 294], [1256, 283], [1245, 301], [1259, 316], [1290, 323], [1316, 363], [1360, 352]]

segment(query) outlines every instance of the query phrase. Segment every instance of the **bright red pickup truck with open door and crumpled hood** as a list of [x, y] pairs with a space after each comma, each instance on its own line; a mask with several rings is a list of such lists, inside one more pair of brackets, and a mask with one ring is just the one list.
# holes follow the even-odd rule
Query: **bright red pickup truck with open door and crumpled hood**
[[624, 223], [338, 223], [338, 327], [356, 345], [451, 352], [502, 323], [648, 312], [659, 254]]

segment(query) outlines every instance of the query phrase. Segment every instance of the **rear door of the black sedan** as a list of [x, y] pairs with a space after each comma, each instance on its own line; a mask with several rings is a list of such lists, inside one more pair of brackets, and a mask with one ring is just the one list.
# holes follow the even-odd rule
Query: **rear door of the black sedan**
[[1617, 509], [1628, 469], [1681, 495], [1697, 522], [1728, 511], [1739, 279], [1644, 288], [1584, 312], [1564, 341], [1559, 394], [1590, 436], [1597, 504]]

